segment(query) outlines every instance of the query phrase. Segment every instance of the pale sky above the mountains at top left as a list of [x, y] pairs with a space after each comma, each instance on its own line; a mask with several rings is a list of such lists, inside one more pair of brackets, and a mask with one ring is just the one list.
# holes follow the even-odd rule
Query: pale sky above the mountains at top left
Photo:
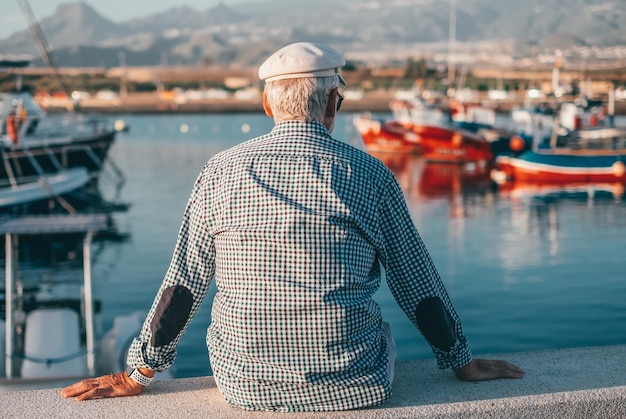
[[[52, 16], [57, 5], [80, 0], [28, 0], [37, 20]], [[207, 10], [216, 4], [227, 5], [245, 0], [84, 0], [105, 18], [119, 23], [136, 17], [165, 11], [171, 7], [189, 6], [196, 10]], [[0, 39], [27, 29], [26, 18], [18, 0], [0, 0]], [[0, 51], [0, 54], [2, 51]]]

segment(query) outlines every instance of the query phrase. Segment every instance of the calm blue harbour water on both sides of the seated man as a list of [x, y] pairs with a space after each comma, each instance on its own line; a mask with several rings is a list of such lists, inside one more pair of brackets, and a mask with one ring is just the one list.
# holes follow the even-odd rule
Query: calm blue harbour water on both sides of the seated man
[[[351, 117], [341, 115], [335, 137], [356, 137]], [[131, 207], [115, 216], [129, 239], [100, 243], [94, 262], [105, 330], [114, 316], [150, 307], [205, 161], [272, 127], [261, 114], [116, 118], [130, 125], [111, 157], [126, 176], [120, 197]], [[387, 163], [475, 354], [626, 343], [626, 203], [619, 191], [533, 198], [493, 190], [472, 167], [418, 158]], [[102, 183], [106, 192], [106, 176]], [[386, 287], [376, 299], [399, 360], [432, 358]], [[211, 374], [209, 321], [206, 301], [179, 346], [176, 377]]]

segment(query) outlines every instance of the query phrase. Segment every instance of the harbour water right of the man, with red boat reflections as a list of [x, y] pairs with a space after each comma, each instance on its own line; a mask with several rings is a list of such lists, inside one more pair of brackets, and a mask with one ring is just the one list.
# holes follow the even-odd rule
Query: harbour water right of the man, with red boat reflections
[[[375, 157], [397, 177], [475, 353], [624, 342], [620, 185], [498, 189], [487, 168]], [[400, 359], [430, 357], [391, 298], [381, 306]]]

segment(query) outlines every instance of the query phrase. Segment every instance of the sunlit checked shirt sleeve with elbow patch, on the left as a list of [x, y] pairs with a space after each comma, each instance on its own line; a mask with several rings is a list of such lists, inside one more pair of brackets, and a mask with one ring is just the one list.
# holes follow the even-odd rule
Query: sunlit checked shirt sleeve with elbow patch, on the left
[[130, 346], [132, 368], [163, 371], [176, 359], [176, 346], [204, 301], [215, 274], [215, 247], [209, 234], [209, 188], [203, 172], [185, 208], [169, 268], [140, 335]]

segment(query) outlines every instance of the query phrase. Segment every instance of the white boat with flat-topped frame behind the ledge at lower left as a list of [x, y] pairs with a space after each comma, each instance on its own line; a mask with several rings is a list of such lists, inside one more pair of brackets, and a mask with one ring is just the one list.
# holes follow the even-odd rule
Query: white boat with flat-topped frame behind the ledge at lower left
[[[0, 318], [0, 391], [61, 387], [79, 379], [125, 369], [125, 355], [146, 313], [114, 319], [102, 333], [101, 304], [93, 296], [92, 237], [108, 228], [104, 214], [29, 216], [0, 220], [6, 275]], [[25, 287], [18, 270], [18, 238], [84, 234], [80, 283]], [[160, 374], [169, 378], [169, 374]]]

